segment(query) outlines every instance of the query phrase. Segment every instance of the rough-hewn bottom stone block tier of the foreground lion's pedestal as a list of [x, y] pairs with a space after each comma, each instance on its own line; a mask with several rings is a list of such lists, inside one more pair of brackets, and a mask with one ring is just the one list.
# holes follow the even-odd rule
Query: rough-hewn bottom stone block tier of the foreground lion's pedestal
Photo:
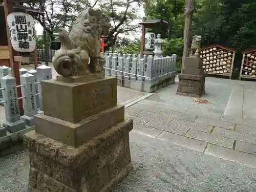
[[34, 191], [103, 192], [115, 187], [132, 170], [129, 132], [133, 120], [110, 127], [77, 148], [31, 131], [29, 185]]

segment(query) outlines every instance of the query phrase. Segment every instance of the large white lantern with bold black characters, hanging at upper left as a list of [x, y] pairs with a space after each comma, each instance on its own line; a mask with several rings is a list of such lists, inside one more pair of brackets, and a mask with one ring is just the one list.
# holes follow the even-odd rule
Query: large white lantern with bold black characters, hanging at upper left
[[10, 13], [7, 16], [7, 23], [13, 49], [17, 52], [34, 51], [36, 47], [34, 18], [27, 13]]

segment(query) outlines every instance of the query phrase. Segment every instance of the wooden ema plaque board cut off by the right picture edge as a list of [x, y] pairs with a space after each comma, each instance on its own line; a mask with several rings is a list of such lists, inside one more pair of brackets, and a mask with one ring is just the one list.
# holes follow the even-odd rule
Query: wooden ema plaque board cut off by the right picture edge
[[241, 78], [256, 79], [256, 49], [243, 52], [239, 80]]

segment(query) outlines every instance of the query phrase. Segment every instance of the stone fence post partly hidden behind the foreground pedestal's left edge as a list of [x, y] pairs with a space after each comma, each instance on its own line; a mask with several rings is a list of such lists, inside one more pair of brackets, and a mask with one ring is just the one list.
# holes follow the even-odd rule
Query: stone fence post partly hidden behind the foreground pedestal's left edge
[[[38, 68], [36, 68], [36, 77], [37, 77], [37, 82], [52, 79], [52, 69], [46, 65], [42, 65]], [[42, 107], [42, 88], [41, 88], [41, 83], [38, 83], [38, 99], [39, 99], [39, 106], [40, 108], [39, 113], [44, 111]]]

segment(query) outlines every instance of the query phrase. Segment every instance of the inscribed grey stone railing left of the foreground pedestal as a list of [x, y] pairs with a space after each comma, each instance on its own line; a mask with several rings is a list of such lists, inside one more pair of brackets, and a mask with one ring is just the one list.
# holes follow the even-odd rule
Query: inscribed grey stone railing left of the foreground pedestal
[[[42, 65], [36, 70], [20, 69], [20, 86], [16, 86], [16, 79], [11, 76], [11, 69], [0, 67], [1, 104], [4, 105], [5, 120], [0, 128], [0, 137], [7, 132], [14, 133], [33, 125], [33, 116], [42, 113], [42, 95], [40, 81], [52, 79], [52, 69]], [[18, 97], [17, 89], [22, 90]], [[18, 100], [23, 100], [24, 115], [20, 116]]]

